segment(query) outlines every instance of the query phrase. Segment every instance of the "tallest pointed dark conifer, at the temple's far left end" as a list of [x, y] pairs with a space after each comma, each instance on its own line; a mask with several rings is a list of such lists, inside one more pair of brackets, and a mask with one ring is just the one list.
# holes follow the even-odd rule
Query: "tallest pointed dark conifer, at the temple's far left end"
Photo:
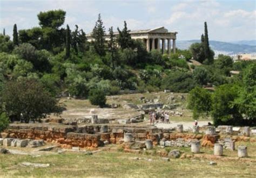
[[105, 55], [104, 35], [105, 35], [105, 27], [103, 26], [103, 22], [100, 17], [100, 13], [99, 13], [98, 20], [96, 22], [96, 25], [95, 25], [93, 31], [92, 31], [92, 38], [94, 39], [93, 46], [95, 48], [95, 51], [100, 56]]

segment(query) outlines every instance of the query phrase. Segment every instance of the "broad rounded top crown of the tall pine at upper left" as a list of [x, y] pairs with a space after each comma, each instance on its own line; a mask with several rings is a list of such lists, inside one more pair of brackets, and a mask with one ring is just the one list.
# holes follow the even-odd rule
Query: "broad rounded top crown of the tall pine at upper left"
[[52, 29], [58, 29], [65, 22], [66, 12], [63, 10], [50, 10], [45, 12], [40, 12], [37, 17], [39, 20], [39, 25], [42, 28], [50, 27]]

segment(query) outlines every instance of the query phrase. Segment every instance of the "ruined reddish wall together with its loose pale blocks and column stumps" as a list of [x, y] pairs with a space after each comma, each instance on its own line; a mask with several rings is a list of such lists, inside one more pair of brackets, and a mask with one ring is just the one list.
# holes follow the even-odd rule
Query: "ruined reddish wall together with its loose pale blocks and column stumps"
[[[142, 149], [152, 149], [156, 145], [160, 147], [191, 147], [193, 153], [200, 153], [200, 146], [214, 146], [216, 155], [221, 155], [223, 148], [234, 150], [235, 141], [239, 140], [239, 137], [234, 139], [232, 135], [220, 138], [213, 126], [207, 126], [204, 134], [184, 132], [181, 125], [177, 126], [177, 130], [175, 130], [161, 129], [151, 125], [65, 125], [56, 123], [10, 124], [9, 128], [1, 133], [1, 137], [0, 145], [4, 146], [32, 147], [40, 144], [30, 143], [43, 144], [45, 140], [57, 143], [63, 148], [96, 149], [106, 144], [118, 144], [124, 151], [136, 153]], [[253, 141], [254, 138], [251, 139], [250, 141]], [[256, 140], [254, 139], [254, 141]], [[245, 148], [241, 149], [241, 152], [246, 152]], [[241, 153], [241, 156], [244, 155]]]

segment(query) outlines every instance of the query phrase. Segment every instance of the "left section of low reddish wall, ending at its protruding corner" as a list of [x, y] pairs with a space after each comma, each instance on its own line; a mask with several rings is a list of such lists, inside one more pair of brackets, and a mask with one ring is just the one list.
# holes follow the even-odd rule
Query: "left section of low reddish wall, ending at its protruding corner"
[[2, 138], [43, 139], [48, 142], [96, 148], [102, 144], [100, 134], [75, 133], [76, 126], [61, 124], [11, 124], [1, 133]]

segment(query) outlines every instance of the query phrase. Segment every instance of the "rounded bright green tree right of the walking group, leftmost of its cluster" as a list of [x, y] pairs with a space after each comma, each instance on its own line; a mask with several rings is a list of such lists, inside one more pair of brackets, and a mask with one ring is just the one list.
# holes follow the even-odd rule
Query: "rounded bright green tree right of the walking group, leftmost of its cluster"
[[193, 112], [193, 118], [206, 117], [212, 108], [211, 93], [206, 89], [196, 87], [188, 95], [188, 109]]

